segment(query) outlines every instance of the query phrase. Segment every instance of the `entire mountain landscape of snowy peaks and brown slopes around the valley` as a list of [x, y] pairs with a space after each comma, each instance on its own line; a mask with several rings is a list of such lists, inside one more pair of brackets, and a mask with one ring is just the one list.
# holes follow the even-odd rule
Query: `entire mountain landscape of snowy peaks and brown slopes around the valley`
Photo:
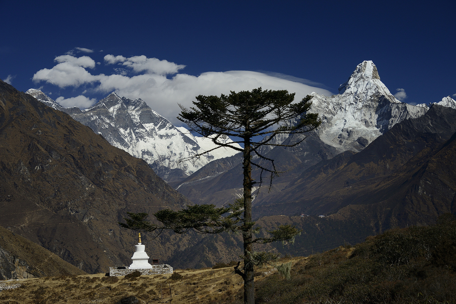
[[[429, 105], [400, 102], [372, 61], [358, 65], [339, 94], [312, 95], [322, 127], [299, 146], [264, 151], [283, 173], [270, 189], [263, 175], [253, 202], [264, 231], [292, 224], [302, 235], [294, 246], [255, 250], [310, 254], [456, 213], [450, 96]], [[87, 273], [130, 264], [136, 234], [118, 224], [127, 212], [221, 206], [242, 193], [238, 154], [180, 162], [212, 143], [173, 126], [144, 101], [111, 93], [86, 110], [63, 108], [41, 91], [25, 94], [4, 82], [0, 98], [1, 226]], [[302, 139], [276, 142], [296, 137]], [[257, 181], [260, 174], [253, 171]], [[151, 257], [183, 269], [236, 260], [242, 251], [238, 235], [166, 232], [144, 239]]]

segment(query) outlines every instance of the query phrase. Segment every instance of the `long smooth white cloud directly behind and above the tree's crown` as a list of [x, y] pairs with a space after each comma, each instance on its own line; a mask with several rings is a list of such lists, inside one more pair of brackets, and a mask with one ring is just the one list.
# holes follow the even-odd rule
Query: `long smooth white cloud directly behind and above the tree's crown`
[[173, 123], [180, 124], [176, 117], [180, 113], [177, 103], [192, 106], [198, 95], [229, 94], [230, 91], [247, 91], [263, 87], [268, 90], [296, 92], [299, 101], [315, 91], [331, 96], [330, 91], [307, 86], [299, 82], [280, 79], [253, 71], [206, 72], [200, 76], [177, 74], [171, 79], [165, 76], [142, 74], [137, 76], [110, 75], [100, 78], [98, 91], [116, 91], [120, 96], [141, 98], [154, 110]]

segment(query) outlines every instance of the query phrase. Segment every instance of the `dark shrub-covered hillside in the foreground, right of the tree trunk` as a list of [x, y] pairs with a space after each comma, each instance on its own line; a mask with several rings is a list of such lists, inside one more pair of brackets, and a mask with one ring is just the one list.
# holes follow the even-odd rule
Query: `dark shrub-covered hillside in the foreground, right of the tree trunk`
[[456, 221], [388, 231], [296, 263], [256, 285], [256, 303], [455, 303]]

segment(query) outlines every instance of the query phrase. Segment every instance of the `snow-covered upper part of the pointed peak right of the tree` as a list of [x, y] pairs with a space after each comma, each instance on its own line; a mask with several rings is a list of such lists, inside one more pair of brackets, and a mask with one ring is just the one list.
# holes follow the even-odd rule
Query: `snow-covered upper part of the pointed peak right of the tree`
[[380, 81], [372, 61], [360, 63], [339, 87], [339, 94], [313, 96], [311, 112], [323, 122], [318, 135], [340, 152], [358, 152], [394, 124], [427, 111], [397, 100]]

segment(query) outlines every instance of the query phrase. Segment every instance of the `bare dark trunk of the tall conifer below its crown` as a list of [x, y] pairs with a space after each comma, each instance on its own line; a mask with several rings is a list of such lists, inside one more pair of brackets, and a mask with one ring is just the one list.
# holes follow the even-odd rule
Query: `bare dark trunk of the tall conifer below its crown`
[[254, 304], [254, 264], [252, 252], [252, 166], [250, 165], [250, 138], [244, 138], [244, 304]]

